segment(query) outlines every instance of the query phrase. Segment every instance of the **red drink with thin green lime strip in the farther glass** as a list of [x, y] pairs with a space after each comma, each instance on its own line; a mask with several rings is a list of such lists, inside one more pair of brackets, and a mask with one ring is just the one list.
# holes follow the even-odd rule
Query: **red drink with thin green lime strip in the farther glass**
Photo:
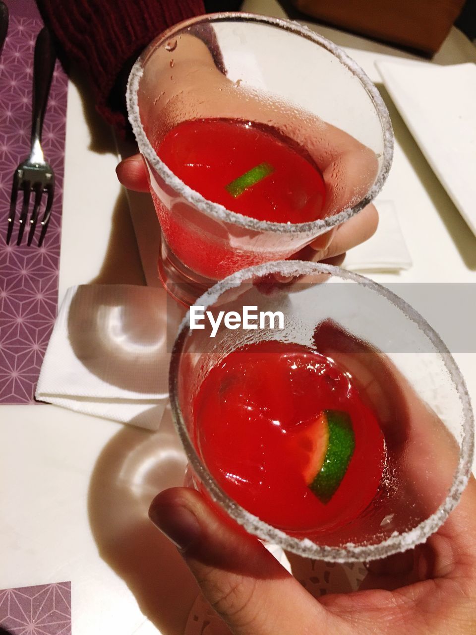
[[[323, 215], [326, 189], [319, 168], [305, 149], [270, 126], [232, 119], [185, 121], [154, 147], [185, 184], [227, 210], [292, 224]], [[162, 184], [159, 175], [154, 178], [161, 190], [152, 189], [152, 198], [171, 250], [162, 253], [168, 270], [162, 278], [176, 277], [171, 271], [178, 270], [183, 281], [190, 277], [200, 283], [200, 276], [213, 281], [297, 251], [286, 234], [280, 241], [274, 234], [198, 213]], [[300, 240], [302, 246], [305, 241]]]

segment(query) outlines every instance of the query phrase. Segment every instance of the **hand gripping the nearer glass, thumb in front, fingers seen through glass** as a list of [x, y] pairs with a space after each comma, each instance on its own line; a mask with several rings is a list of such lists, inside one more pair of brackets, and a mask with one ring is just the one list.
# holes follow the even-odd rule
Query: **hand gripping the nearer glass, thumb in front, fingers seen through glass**
[[[314, 343], [354, 376], [362, 399], [374, 408], [385, 429], [388, 447], [397, 458], [400, 450], [404, 458], [400, 478], [407, 485], [402, 497], [396, 495], [399, 516], [404, 518], [406, 508], [412, 507], [409, 498], [414, 498], [426, 518], [453, 478], [458, 460], [454, 438], [383, 354], [331, 322], [319, 325]], [[415, 487], [423, 495], [420, 491], [420, 496], [412, 497]], [[301, 587], [256, 538], [218, 516], [199, 492], [162, 491], [149, 514], [178, 545], [204, 596], [235, 635], [476, 632], [473, 477], [456, 509], [425, 544], [369, 563], [359, 591], [319, 599]]]

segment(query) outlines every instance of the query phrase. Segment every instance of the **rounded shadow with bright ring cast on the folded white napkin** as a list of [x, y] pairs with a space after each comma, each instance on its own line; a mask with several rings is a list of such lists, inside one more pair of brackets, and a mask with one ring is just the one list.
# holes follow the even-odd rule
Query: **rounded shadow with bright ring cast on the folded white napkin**
[[[119, 387], [166, 398], [169, 354], [182, 312], [162, 288], [81, 285], [67, 315], [69, 345], [89, 373], [109, 385], [100, 396], [110, 391], [117, 396], [113, 387]], [[76, 381], [75, 394], [83, 394]]]

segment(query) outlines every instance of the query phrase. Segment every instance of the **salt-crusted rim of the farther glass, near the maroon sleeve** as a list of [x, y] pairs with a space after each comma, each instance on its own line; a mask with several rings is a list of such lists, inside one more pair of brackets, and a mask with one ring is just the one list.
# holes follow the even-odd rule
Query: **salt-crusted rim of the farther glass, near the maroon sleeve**
[[[281, 28], [296, 35], [305, 37], [314, 43], [319, 44], [322, 48], [332, 53], [334, 57], [343, 64], [347, 69], [360, 80], [360, 83], [367, 92], [367, 95], [371, 98], [371, 102], [374, 105], [376, 113], [379, 117], [382, 134], [383, 134], [383, 151], [382, 162], [378, 175], [372, 185], [371, 189], [367, 192], [366, 196], [362, 198], [355, 205], [341, 210], [339, 213], [329, 216], [327, 218], [319, 218], [318, 220], [312, 220], [305, 223], [277, 223], [266, 220], [258, 220], [256, 218], [250, 218], [244, 216], [238, 212], [228, 210], [225, 206], [219, 203], [213, 203], [209, 201], [202, 194], [193, 190], [187, 184], [185, 184], [180, 178], [178, 178], [173, 171], [159, 158], [154, 147], [150, 144], [149, 138], [145, 133], [140, 118], [139, 106], [138, 106], [138, 88], [140, 79], [143, 74], [143, 65], [147, 62], [147, 58], [150, 52], [161, 46], [164, 41], [171, 39], [184, 29], [191, 27], [197, 23], [204, 22], [255, 22], [265, 25]], [[172, 187], [176, 192], [181, 194], [187, 201], [194, 204], [196, 208], [206, 213], [209, 217], [216, 220], [225, 221], [234, 225], [239, 225], [246, 229], [258, 232], [272, 231], [284, 234], [315, 234], [322, 233], [325, 229], [330, 229], [335, 225], [348, 220], [348, 218], [354, 216], [360, 210], [363, 210], [380, 192], [383, 184], [387, 180], [390, 166], [392, 165], [393, 158], [393, 130], [392, 122], [390, 121], [390, 115], [388, 114], [387, 106], [383, 102], [383, 99], [377, 90], [376, 86], [369, 79], [367, 74], [362, 68], [343, 51], [336, 46], [333, 42], [329, 41], [325, 37], [320, 36], [314, 31], [310, 30], [307, 26], [301, 25], [298, 22], [291, 20], [282, 20], [281, 18], [272, 18], [255, 13], [240, 13], [240, 12], [224, 12], [224, 13], [209, 13], [208, 15], [202, 15], [189, 20], [183, 20], [174, 25], [170, 29], [164, 31], [157, 36], [147, 46], [142, 55], [136, 60], [129, 74], [128, 86], [126, 92], [126, 102], [128, 108], [129, 122], [131, 123], [133, 132], [139, 145], [140, 152], [150, 165], [159, 173], [164, 182]]]

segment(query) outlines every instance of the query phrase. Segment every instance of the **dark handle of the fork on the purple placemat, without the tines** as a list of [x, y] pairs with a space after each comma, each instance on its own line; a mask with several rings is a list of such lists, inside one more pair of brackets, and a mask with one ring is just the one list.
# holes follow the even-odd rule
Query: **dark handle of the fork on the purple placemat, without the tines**
[[32, 113], [32, 146], [41, 142], [44, 112], [48, 93], [50, 93], [51, 77], [55, 69], [56, 55], [50, 33], [43, 27], [36, 38], [35, 59], [33, 69], [33, 113]]

